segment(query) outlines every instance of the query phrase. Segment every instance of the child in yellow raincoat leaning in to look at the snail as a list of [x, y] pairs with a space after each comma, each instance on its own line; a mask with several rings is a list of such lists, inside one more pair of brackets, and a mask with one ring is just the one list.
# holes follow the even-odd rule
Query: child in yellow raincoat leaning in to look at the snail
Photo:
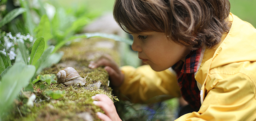
[[[113, 14], [148, 64], [120, 71], [105, 56], [89, 65], [105, 66], [120, 93], [135, 103], [181, 95], [195, 112], [176, 121], [256, 120], [256, 29], [228, 0], [116, 0]], [[107, 96], [93, 99], [100, 119], [121, 120]]]

